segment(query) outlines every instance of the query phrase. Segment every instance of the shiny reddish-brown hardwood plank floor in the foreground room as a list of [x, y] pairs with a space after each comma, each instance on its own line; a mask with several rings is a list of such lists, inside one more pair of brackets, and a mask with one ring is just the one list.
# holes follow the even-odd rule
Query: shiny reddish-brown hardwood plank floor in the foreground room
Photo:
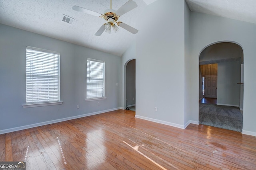
[[256, 137], [134, 115], [117, 110], [0, 135], [0, 161], [26, 160], [27, 170], [256, 168]]

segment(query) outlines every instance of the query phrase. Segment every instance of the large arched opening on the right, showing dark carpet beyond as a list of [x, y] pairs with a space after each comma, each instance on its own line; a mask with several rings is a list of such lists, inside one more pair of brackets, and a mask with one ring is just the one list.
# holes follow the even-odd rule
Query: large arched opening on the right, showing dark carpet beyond
[[217, 42], [199, 56], [199, 122], [242, 131], [243, 49], [233, 42]]

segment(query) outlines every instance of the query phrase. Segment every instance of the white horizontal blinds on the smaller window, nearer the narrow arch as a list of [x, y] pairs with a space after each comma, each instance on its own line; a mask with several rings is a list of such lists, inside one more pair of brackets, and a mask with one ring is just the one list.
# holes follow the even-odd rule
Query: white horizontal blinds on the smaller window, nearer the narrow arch
[[87, 59], [86, 99], [105, 97], [105, 62]]

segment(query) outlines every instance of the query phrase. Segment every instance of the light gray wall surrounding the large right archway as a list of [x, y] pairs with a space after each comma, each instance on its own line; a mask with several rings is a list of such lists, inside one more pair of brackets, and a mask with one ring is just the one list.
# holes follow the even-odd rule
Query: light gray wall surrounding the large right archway
[[[256, 95], [256, 24], [190, 12], [191, 63], [190, 78], [199, 79], [199, 55], [201, 51], [218, 42], [235, 42], [244, 51], [244, 108], [242, 133], [256, 135], [256, 113], [254, 96]], [[198, 83], [191, 81], [190, 115], [198, 120]]]

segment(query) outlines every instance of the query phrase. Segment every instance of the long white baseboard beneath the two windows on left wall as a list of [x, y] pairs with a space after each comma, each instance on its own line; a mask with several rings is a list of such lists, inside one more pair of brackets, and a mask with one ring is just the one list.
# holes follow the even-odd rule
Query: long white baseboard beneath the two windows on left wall
[[86, 114], [83, 114], [83, 115], [77, 115], [77, 116], [66, 117], [66, 118], [62, 118], [62, 119], [56, 119], [56, 120], [52, 120], [52, 121], [45, 121], [45, 122], [41, 122], [41, 123], [35, 123], [35, 124], [32, 124], [32, 125], [25, 125], [25, 126], [10, 128], [10, 129], [4, 129], [4, 130], [0, 130], [0, 135], [4, 134], [4, 133], [10, 133], [10, 132], [14, 132], [14, 131], [20, 131], [20, 130], [24, 130], [24, 129], [29, 129], [29, 128], [33, 128], [33, 127], [49, 125], [49, 124], [52, 124], [52, 123], [58, 123], [58, 122], [62, 122], [62, 121], [78, 119], [78, 118], [81, 118], [81, 117], [97, 115], [97, 114], [106, 113], [108, 111], [114, 111], [114, 110], [118, 110], [118, 109], [123, 109], [123, 108], [122, 107], [118, 107], [118, 108], [114, 108], [114, 109], [102, 110], [102, 111], [97, 111], [97, 112], [93, 112], [93, 113], [86, 113]]

